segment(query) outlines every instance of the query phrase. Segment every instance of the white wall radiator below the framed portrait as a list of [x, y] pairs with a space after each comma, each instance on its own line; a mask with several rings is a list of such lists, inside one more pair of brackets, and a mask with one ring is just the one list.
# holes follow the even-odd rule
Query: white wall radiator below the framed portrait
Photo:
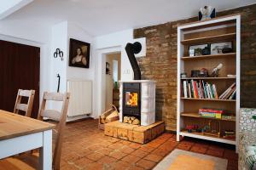
[[67, 116], [91, 114], [92, 82], [84, 80], [68, 80], [67, 92], [70, 93]]

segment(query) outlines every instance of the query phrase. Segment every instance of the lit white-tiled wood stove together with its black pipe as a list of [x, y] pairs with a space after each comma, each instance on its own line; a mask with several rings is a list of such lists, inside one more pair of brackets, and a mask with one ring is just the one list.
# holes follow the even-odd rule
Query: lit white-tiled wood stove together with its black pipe
[[141, 49], [139, 42], [125, 46], [134, 80], [119, 81], [119, 122], [148, 126], [155, 122], [155, 81], [141, 80], [141, 71], [134, 55]]

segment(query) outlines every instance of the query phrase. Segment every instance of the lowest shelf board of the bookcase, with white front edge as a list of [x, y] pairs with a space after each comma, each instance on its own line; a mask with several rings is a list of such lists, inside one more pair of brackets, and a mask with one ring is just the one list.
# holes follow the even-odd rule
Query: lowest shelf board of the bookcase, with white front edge
[[182, 131], [179, 134], [182, 136], [187, 136], [187, 137], [192, 137], [192, 138], [197, 138], [197, 139], [206, 139], [206, 140], [211, 140], [211, 141], [215, 141], [215, 142], [221, 142], [224, 144], [236, 144], [235, 139], [218, 138], [218, 137], [203, 135], [202, 133], [188, 133], [187, 131]]

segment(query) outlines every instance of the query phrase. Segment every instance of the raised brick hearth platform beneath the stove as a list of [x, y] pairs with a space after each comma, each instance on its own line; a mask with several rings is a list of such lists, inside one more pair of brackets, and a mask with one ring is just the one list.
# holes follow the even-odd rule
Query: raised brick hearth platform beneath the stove
[[119, 139], [146, 144], [165, 130], [164, 122], [155, 122], [149, 126], [138, 126], [119, 121], [105, 124], [105, 135]]

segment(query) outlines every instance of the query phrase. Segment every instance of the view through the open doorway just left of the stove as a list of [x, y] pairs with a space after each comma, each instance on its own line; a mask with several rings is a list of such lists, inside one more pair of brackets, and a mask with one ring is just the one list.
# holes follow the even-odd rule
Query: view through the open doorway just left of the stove
[[106, 110], [112, 105], [119, 108], [119, 80], [121, 77], [121, 53], [106, 55]]

